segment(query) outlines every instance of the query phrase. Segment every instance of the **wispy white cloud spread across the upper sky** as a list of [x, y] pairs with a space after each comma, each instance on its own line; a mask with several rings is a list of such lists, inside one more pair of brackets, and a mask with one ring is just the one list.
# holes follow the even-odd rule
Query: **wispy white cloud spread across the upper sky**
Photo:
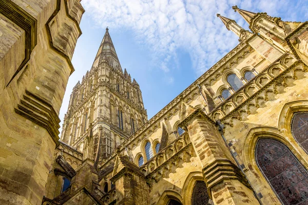
[[136, 33], [136, 40], [151, 48], [153, 62], [165, 73], [175, 67], [171, 62], [177, 61], [176, 50], [184, 49], [197, 75], [238, 44], [216, 13], [240, 25], [243, 19], [231, 9], [236, 4], [245, 10], [280, 14], [286, 20], [307, 17], [305, 2], [287, 0], [83, 0], [82, 4], [98, 25]]

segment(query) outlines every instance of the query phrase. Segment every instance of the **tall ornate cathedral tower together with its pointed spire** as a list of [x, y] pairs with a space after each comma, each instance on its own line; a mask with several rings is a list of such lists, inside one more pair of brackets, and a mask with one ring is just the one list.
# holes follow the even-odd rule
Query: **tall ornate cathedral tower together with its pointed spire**
[[146, 120], [140, 87], [123, 72], [106, 28], [91, 70], [73, 88], [61, 140], [97, 164]]

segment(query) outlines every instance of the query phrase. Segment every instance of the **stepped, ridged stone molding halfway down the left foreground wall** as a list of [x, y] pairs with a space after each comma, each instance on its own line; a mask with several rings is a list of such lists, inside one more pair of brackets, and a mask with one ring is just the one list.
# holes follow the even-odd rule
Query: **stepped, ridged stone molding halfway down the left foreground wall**
[[56, 146], [60, 145], [58, 141], [60, 119], [52, 105], [43, 98], [26, 90], [15, 112], [46, 128]]

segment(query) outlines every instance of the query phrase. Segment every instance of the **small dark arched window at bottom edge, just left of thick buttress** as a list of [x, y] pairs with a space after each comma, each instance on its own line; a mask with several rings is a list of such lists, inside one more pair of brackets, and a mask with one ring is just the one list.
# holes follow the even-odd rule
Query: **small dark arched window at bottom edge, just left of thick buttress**
[[192, 191], [191, 204], [192, 205], [207, 205], [209, 197], [204, 181], [197, 181]]

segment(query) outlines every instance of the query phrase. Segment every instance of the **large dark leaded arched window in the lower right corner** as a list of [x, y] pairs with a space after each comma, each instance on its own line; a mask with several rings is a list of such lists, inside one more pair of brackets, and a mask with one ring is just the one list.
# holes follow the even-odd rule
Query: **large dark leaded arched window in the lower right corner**
[[282, 204], [304, 204], [307, 201], [307, 170], [284, 144], [275, 139], [259, 139], [256, 160]]

